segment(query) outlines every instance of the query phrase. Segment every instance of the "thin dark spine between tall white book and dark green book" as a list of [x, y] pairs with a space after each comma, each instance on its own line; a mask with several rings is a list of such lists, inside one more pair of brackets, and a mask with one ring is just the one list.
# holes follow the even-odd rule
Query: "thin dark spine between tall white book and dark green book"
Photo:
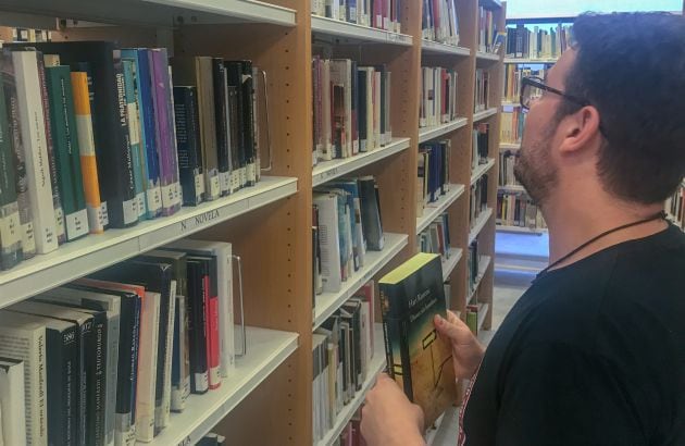
[[[40, 84], [40, 102], [42, 104], [42, 116], [46, 135], [46, 148], [48, 151], [48, 165], [50, 166], [50, 185], [52, 188], [52, 206], [54, 208], [54, 225], [57, 230], [58, 245], [66, 241], [66, 228], [64, 226], [64, 208], [62, 207], [62, 191], [58, 175], [57, 154], [53, 145], [52, 119], [50, 113], [50, 99], [48, 96], [48, 83], [46, 79], [45, 62], [41, 53], [36, 53], [38, 64], [38, 80]], [[71, 169], [70, 169], [71, 171]]]

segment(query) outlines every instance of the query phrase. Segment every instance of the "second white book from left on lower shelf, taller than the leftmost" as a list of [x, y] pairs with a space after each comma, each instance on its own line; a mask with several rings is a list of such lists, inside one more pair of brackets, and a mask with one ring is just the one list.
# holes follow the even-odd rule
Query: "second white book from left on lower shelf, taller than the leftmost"
[[24, 361], [25, 444], [47, 446], [45, 325], [17, 322], [11, 313], [0, 312], [0, 356]]

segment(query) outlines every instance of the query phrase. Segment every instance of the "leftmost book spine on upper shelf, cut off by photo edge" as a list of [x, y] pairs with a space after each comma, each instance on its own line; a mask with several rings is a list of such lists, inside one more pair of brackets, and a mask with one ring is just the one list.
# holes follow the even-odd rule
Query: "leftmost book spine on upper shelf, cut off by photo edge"
[[0, 270], [9, 270], [22, 261], [22, 227], [8, 112], [4, 88], [0, 88]]

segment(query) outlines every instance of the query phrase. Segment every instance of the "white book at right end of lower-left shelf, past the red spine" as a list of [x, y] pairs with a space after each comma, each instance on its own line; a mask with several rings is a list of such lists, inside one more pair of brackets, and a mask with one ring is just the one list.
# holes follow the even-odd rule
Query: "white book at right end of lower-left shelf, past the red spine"
[[216, 258], [216, 282], [219, 285], [219, 342], [222, 377], [228, 377], [236, 368], [235, 312], [233, 308], [233, 246], [229, 243], [195, 240], [183, 238], [166, 245], [166, 248], [177, 249], [194, 256], [210, 256]]

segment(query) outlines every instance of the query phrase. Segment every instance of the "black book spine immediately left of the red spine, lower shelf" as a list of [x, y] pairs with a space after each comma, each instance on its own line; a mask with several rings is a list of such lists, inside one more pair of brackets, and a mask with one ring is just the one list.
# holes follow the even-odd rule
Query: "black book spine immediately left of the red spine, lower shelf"
[[188, 311], [190, 335], [190, 391], [204, 394], [209, 389], [207, 357], [207, 321], [204, 301], [204, 263], [188, 260]]

